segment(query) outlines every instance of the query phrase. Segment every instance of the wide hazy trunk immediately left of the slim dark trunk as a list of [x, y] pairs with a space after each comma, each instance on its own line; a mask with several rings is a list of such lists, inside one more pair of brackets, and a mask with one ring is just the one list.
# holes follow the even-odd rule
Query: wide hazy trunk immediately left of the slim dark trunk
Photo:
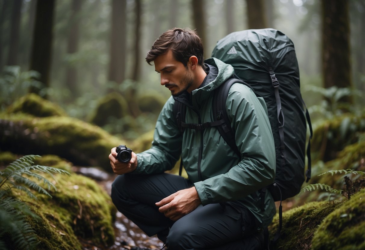
[[126, 0], [112, 0], [108, 80], [118, 84], [122, 83], [125, 78], [126, 8]]

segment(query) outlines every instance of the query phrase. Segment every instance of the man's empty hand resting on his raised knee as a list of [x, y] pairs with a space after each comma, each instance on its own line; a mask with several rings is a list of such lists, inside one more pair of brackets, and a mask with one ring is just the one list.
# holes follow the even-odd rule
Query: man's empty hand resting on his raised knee
[[176, 221], [194, 211], [201, 204], [195, 187], [179, 190], [176, 193], [162, 199], [156, 203], [158, 211], [164, 213], [166, 217]]

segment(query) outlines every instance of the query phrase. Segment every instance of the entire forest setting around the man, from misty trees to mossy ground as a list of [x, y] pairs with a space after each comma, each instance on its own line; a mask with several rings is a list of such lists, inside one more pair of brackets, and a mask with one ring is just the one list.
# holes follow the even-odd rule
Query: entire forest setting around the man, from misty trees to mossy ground
[[[35, 154], [42, 155], [36, 164], [71, 173], [57, 176], [52, 199], [12, 192], [42, 217], [29, 220], [36, 249], [120, 249], [121, 242], [161, 249], [118, 217], [107, 193], [115, 178], [108, 155], [119, 144], [137, 153], [150, 147], [170, 92], [145, 55], [173, 27], [196, 30], [204, 58], [234, 31], [275, 28], [292, 39], [314, 131], [312, 179], [283, 203], [278, 245], [364, 249], [364, 0], [0, 0], [0, 214], [8, 209], [0, 248], [29, 236], [8, 240], [16, 210], [5, 206], [4, 183], [12, 180], [5, 166]], [[81, 166], [103, 169], [92, 177], [98, 183], [76, 174]], [[319, 189], [328, 192], [306, 192]], [[278, 227], [275, 217], [270, 233]]]

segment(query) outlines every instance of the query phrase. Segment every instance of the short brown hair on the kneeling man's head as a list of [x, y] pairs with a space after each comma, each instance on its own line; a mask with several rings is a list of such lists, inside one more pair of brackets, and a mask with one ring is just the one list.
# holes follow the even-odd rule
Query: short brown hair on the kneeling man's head
[[151, 62], [159, 55], [165, 54], [172, 50], [174, 58], [187, 67], [189, 58], [195, 55], [198, 58], [198, 64], [203, 64], [203, 44], [200, 37], [195, 31], [189, 29], [173, 28], [163, 33], [152, 45], [147, 52], [146, 62]]

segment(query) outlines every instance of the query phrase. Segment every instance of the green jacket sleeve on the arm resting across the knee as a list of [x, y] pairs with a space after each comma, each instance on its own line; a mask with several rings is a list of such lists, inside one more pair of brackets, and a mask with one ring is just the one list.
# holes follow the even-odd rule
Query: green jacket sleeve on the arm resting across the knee
[[241, 159], [226, 173], [194, 183], [203, 205], [243, 199], [274, 182], [275, 146], [264, 100], [234, 84], [226, 108]]

